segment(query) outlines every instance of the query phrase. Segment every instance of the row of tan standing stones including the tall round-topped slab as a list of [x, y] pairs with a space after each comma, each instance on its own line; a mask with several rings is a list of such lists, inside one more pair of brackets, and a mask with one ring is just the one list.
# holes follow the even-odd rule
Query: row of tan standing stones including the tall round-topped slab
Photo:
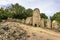
[[33, 10], [33, 16], [32, 17], [28, 17], [25, 21], [25, 24], [30, 24], [32, 26], [36, 26], [36, 27], [43, 27], [43, 28], [48, 28], [48, 29], [58, 29], [59, 25], [58, 22], [56, 21], [51, 21], [49, 19], [42, 19], [40, 17], [40, 10], [38, 8], [35, 8]]

